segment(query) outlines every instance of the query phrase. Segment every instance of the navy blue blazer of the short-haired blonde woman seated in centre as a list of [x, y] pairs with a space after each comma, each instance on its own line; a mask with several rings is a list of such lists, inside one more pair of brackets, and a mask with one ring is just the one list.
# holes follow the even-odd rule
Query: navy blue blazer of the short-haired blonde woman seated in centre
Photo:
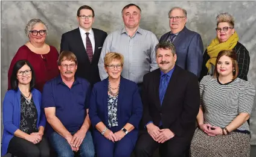
[[[108, 126], [107, 90], [108, 78], [97, 82], [94, 84], [94, 88], [92, 88], [89, 117], [94, 128], [93, 135], [96, 141], [98, 136], [102, 136], [95, 128], [97, 123], [103, 122], [104, 125]], [[126, 123], [130, 123], [135, 127], [135, 129], [126, 135], [135, 145], [138, 138], [139, 122], [142, 117], [142, 102], [137, 84], [122, 76], [117, 100], [117, 117], [118, 130], [121, 130]]]

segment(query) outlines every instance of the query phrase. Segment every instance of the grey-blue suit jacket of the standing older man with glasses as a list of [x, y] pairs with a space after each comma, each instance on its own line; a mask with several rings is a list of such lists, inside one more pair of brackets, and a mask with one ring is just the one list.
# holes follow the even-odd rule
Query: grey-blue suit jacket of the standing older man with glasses
[[[162, 35], [159, 42], [167, 41], [170, 34], [171, 32], [167, 32]], [[176, 64], [199, 77], [203, 61], [203, 42], [200, 34], [190, 31], [185, 26], [179, 32], [173, 44], [177, 54]]]

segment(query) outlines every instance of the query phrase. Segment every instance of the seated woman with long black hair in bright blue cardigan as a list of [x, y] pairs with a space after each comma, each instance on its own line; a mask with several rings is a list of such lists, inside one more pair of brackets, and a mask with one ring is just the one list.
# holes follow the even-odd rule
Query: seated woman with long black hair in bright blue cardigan
[[11, 90], [3, 102], [4, 134], [2, 153], [19, 157], [48, 157], [50, 147], [43, 137], [45, 114], [41, 93], [34, 88], [35, 76], [27, 60], [17, 61], [12, 69]]

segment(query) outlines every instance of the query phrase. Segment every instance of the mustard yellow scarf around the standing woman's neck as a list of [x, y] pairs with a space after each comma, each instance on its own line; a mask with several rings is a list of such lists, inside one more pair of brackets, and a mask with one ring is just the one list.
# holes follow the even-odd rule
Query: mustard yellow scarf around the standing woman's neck
[[215, 66], [217, 55], [222, 50], [233, 49], [239, 40], [237, 32], [234, 32], [231, 37], [226, 40], [226, 42], [220, 43], [219, 39], [216, 37], [213, 39], [211, 44], [207, 47], [207, 54], [210, 56], [210, 59], [207, 61], [205, 66], [210, 70], [211, 64]]

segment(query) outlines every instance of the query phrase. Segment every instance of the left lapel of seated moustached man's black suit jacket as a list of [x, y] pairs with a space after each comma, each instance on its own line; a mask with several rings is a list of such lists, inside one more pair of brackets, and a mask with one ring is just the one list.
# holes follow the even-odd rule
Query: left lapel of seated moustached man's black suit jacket
[[158, 69], [158, 72], [156, 73], [156, 75], [154, 75], [153, 77], [153, 92], [155, 93], [155, 105], [156, 108], [158, 108], [158, 110], [161, 110], [161, 102], [160, 102], [160, 97], [159, 97], [159, 85], [160, 85], [160, 69]]

